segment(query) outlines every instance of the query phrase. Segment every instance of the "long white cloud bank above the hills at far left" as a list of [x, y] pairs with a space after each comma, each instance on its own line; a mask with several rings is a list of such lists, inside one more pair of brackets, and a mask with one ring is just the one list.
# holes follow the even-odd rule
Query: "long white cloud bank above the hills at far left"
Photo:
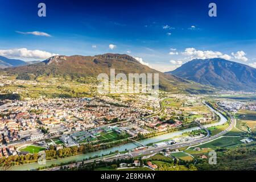
[[0, 50], [0, 55], [9, 58], [20, 59], [47, 59], [49, 57], [56, 56], [57, 54], [40, 50], [28, 50], [27, 48], [19, 48]]

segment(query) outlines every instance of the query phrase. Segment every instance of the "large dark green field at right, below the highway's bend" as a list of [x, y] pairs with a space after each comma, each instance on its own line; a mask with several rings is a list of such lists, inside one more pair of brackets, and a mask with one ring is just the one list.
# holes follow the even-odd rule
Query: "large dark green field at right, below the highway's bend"
[[201, 144], [200, 148], [223, 148], [223, 147], [233, 147], [237, 144], [242, 144], [240, 140], [243, 139], [242, 137], [222, 137], [216, 140], [213, 140], [212, 142]]

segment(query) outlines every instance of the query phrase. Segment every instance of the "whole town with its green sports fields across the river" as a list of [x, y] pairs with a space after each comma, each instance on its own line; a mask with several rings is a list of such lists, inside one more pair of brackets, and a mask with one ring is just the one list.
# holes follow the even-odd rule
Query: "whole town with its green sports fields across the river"
[[195, 96], [171, 97], [141, 94], [5, 100], [0, 106], [1, 156], [26, 155], [29, 150], [23, 148], [30, 145], [55, 146], [58, 150], [86, 143], [113, 143], [192, 127], [195, 122], [217, 121]]

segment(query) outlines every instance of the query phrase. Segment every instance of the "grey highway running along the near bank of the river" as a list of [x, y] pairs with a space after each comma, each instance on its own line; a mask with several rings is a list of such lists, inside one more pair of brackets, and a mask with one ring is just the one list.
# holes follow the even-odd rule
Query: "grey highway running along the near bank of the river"
[[[205, 102], [203, 102], [203, 103], [205, 104]], [[117, 154], [117, 155], [106, 156], [106, 157], [102, 157], [102, 158], [98, 158], [98, 159], [86, 160], [86, 161], [84, 161], [84, 164], [92, 163], [95, 160], [96, 160], [96, 162], [98, 162], [100, 160], [104, 160], [105, 162], [109, 162], [109, 161], [117, 160], [117, 159], [125, 159], [125, 158], [130, 158], [130, 157], [136, 157], [136, 156], [139, 156], [139, 155], [152, 154], [152, 153], [163, 151], [164, 149], [175, 150], [176, 148], [196, 146], [197, 144], [207, 143], [207, 142], [210, 142], [212, 140], [215, 140], [217, 138], [222, 137], [223, 135], [228, 133], [230, 130], [232, 130], [233, 127], [236, 126], [236, 118], [234, 117], [234, 115], [228, 114], [228, 116], [230, 117], [230, 125], [228, 126], [228, 128], [226, 130], [222, 131], [221, 133], [218, 133], [218, 134], [216, 134], [212, 137], [210, 137], [209, 131], [206, 129], [207, 130], [207, 135], [204, 138], [200, 138], [200, 139], [194, 140], [192, 142], [189, 141], [189, 142], [177, 143], [177, 144], [172, 144], [172, 145], [162, 146], [162, 147], [150, 146], [150, 147], [145, 148], [144, 150], [140, 150], [140, 151], [132, 151], [132, 152], [127, 152], [125, 154]], [[200, 125], [200, 127], [204, 128], [202, 125]], [[68, 164], [65, 167], [77, 167], [80, 164], [81, 164], [81, 162], [76, 163], [76, 164]], [[60, 167], [49, 168], [49, 169], [46, 169], [46, 170], [56, 171], [56, 170], [60, 170]]]

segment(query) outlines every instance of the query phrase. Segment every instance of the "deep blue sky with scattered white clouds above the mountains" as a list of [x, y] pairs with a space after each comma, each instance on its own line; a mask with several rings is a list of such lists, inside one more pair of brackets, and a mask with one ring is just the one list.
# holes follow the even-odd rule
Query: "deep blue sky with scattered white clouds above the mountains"
[[[38, 4], [46, 4], [46, 17]], [[217, 5], [217, 17], [208, 5]], [[126, 53], [159, 71], [194, 58], [222, 57], [256, 67], [256, 1], [3, 1], [0, 55]], [[112, 46], [110, 46], [112, 45]]]

